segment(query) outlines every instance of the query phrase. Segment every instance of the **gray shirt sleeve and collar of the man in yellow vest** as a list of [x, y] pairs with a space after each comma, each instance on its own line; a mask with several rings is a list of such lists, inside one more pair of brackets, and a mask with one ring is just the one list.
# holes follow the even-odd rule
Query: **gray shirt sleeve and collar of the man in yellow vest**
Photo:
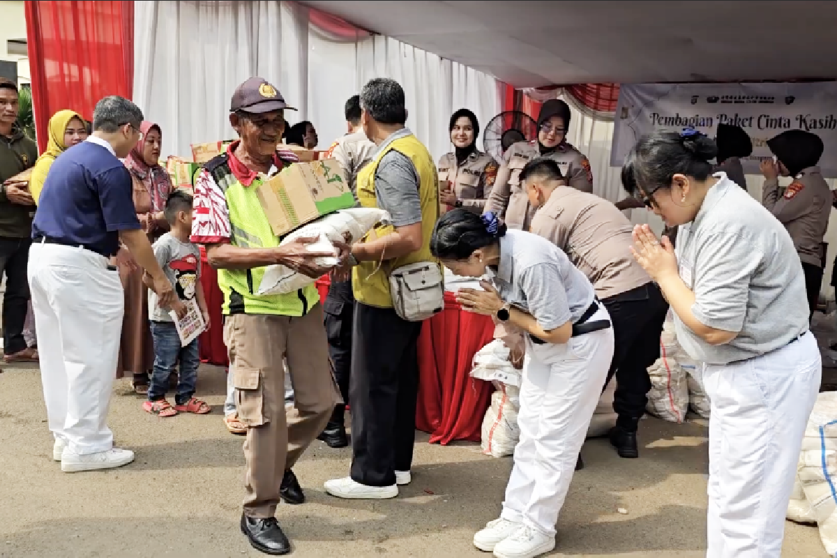
[[[372, 153], [372, 160], [395, 140], [411, 136], [408, 128], [395, 131]], [[377, 207], [389, 212], [396, 227], [406, 227], [421, 222], [421, 198], [419, 197], [419, 172], [413, 161], [400, 151], [389, 151], [375, 169], [375, 196]]]

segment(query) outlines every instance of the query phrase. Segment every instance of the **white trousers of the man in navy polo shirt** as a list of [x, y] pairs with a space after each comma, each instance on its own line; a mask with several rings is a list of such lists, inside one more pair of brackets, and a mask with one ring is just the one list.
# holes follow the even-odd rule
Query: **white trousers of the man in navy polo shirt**
[[80, 454], [113, 447], [106, 421], [125, 296], [107, 265], [83, 248], [33, 243], [29, 250], [49, 430]]

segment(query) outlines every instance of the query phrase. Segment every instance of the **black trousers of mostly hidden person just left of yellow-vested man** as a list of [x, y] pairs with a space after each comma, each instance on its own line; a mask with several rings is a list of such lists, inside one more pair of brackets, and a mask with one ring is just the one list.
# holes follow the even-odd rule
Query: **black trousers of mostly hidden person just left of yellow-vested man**
[[[334, 379], [340, 388], [344, 402], [349, 402], [349, 377], [352, 371], [352, 317], [354, 316], [355, 296], [352, 293], [352, 280], [332, 283], [328, 296], [322, 305], [323, 322], [328, 338], [328, 356], [334, 364]], [[331, 422], [343, 422], [346, 403], [337, 405]]]

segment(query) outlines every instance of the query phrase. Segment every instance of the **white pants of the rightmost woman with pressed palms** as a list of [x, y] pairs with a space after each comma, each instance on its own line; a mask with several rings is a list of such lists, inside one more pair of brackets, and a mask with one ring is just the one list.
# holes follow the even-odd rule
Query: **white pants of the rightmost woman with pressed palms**
[[805, 424], [819, 392], [810, 332], [778, 351], [704, 365], [711, 404], [706, 558], [779, 558]]

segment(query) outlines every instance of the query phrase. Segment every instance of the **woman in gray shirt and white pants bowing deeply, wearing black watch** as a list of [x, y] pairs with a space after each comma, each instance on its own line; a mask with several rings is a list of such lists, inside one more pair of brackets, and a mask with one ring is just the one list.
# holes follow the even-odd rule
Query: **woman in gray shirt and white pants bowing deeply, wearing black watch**
[[506, 230], [494, 213], [445, 213], [430, 250], [454, 274], [482, 277], [457, 301], [526, 334], [520, 441], [499, 519], [474, 545], [499, 558], [555, 548], [555, 524], [614, 354], [614, 330], [593, 285], [546, 238]]

